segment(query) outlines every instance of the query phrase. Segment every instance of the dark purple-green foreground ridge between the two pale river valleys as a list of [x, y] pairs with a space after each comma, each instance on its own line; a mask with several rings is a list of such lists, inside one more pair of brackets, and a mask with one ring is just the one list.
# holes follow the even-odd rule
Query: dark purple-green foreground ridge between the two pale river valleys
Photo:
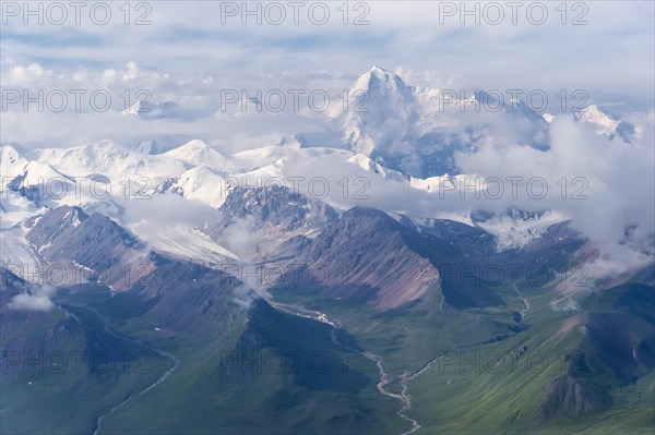
[[227, 274], [158, 258], [152, 276], [99, 310], [123, 334], [179, 359], [166, 383], [104, 419], [109, 433], [405, 427], [384, 415], [395, 403], [376, 389], [374, 365], [348, 370], [354, 355], [332, 341], [329, 325], [273, 309]]

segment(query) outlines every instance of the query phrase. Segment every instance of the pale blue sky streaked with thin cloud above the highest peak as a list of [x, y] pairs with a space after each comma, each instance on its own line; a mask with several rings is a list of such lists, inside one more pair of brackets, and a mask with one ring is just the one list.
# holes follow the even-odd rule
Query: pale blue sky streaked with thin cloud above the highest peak
[[[439, 1], [95, 3], [78, 11], [68, 2], [3, 2], [3, 77], [13, 65], [32, 63], [61, 74], [97, 74], [134, 61], [176, 75], [352, 76], [379, 64], [422, 75], [432, 86], [457, 78], [635, 96], [652, 95], [654, 86], [652, 1], [519, 2], [515, 9]], [[41, 4], [40, 13], [29, 15], [25, 4], [32, 11]]]

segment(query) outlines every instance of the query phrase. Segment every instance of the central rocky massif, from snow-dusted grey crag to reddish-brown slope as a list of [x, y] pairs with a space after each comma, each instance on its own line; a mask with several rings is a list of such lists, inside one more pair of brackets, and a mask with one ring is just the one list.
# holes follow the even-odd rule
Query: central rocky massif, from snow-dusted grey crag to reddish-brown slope
[[479, 280], [453, 274], [475, 269], [495, 252], [492, 237], [478, 228], [445, 220], [419, 226], [362, 207], [340, 216], [279, 186], [235, 189], [218, 212], [205, 231], [239, 262], [279, 269], [269, 282], [293, 282], [380, 310], [502, 304]]

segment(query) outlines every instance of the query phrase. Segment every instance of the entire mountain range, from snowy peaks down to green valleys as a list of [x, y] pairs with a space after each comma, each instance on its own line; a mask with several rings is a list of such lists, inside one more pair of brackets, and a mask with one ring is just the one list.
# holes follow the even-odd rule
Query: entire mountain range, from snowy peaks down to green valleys
[[575, 208], [462, 196], [489, 144], [639, 126], [490, 98], [373, 67], [276, 145], [3, 145], [2, 432], [652, 432], [651, 243], [598, 274]]

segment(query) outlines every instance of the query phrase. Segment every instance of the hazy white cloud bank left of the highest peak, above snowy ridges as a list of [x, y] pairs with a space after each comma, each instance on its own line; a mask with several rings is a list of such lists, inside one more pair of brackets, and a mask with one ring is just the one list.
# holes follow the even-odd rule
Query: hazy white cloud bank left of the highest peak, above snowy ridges
[[[28, 65], [12, 64], [17, 71], [28, 69]], [[239, 119], [222, 119], [218, 114], [222, 114], [219, 109], [225, 90], [248, 95], [261, 92], [265, 95], [275, 89], [283, 93], [303, 89], [307, 96], [319, 89], [331, 95], [334, 106], [335, 101], [341, 101], [338, 94], [353, 81], [350, 76], [338, 74], [289, 74], [286, 71], [277, 74], [251, 71], [239, 75], [223, 72], [169, 74], [135, 61], [103, 71], [88, 68], [76, 68], [70, 72], [57, 70], [44, 74], [40, 81], [23, 81], [21, 85], [10, 77], [11, 69], [2, 69], [2, 73], [0, 80], [14, 83], [19, 100], [7, 101], [8, 110], [2, 113], [0, 135], [3, 142], [17, 143], [26, 148], [51, 147], [53, 144], [66, 147], [108, 137], [126, 146], [133, 146], [144, 138], [163, 142], [171, 141], [171, 137], [176, 137], [178, 143], [203, 138], [230, 149], [261, 146], [264, 136], [279, 140], [318, 125], [322, 113], [309, 110], [307, 99], [300, 105], [301, 111], [294, 111], [293, 97], [286, 94], [285, 111], [281, 113], [263, 110]], [[23, 87], [27, 88], [32, 98], [39, 95], [39, 90], [43, 93], [40, 106], [29, 102], [25, 110]], [[78, 90], [83, 93], [75, 96]], [[57, 96], [49, 100], [48, 95], [52, 92]], [[139, 116], [121, 114], [139, 99], [154, 105], [171, 101], [178, 110], [174, 119], [145, 120]], [[61, 111], [60, 106], [63, 107]]]

